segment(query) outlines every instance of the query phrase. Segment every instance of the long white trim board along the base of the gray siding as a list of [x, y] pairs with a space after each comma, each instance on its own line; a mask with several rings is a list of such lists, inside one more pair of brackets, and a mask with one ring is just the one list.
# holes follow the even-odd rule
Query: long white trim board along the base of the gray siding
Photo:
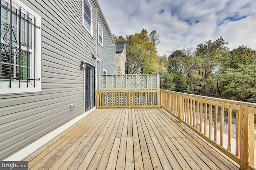
[[93, 107], [92, 109], [88, 110], [87, 112], [82, 113], [78, 117], [72, 119], [71, 121], [67, 122], [66, 124], [64, 124], [64, 125], [58, 127], [57, 129], [55, 129], [54, 131], [52, 131], [52, 132], [48, 133], [47, 135], [41, 137], [37, 141], [31, 143], [30, 145], [23, 148], [22, 150], [16, 152], [12, 156], [6, 158], [4, 161], [19, 161], [19, 160], [22, 160], [23, 158], [25, 158], [26, 156], [28, 156], [29, 154], [31, 154], [32, 152], [34, 152], [35, 150], [37, 150], [38, 148], [42, 147], [44, 144], [46, 144], [47, 142], [52, 140], [54, 137], [56, 137], [57, 135], [59, 135], [60, 133], [62, 133], [63, 131], [65, 131], [66, 129], [71, 127], [72, 125], [74, 125], [76, 122], [78, 122], [81, 119], [83, 119], [84, 117], [86, 117], [86, 115], [92, 113], [92, 111], [94, 111], [95, 109], [96, 109], [96, 107]]

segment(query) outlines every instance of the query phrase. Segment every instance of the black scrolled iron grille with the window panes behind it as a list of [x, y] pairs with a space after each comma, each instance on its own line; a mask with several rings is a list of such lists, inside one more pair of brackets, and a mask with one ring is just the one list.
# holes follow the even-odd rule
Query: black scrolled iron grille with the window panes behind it
[[[9, 82], [36, 86], [36, 17], [12, 2], [1, 0], [0, 85]], [[40, 47], [41, 48], [41, 47]]]

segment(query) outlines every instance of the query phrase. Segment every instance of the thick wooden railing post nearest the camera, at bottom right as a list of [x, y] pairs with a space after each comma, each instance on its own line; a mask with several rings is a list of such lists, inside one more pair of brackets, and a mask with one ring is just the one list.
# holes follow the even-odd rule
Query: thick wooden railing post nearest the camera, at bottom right
[[240, 169], [247, 170], [253, 165], [253, 126], [254, 114], [248, 113], [248, 106], [241, 106], [240, 123]]

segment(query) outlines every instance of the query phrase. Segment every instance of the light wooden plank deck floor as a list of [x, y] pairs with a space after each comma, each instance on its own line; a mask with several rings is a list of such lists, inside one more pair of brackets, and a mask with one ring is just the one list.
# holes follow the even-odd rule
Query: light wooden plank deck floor
[[24, 158], [28, 169], [238, 169], [159, 108], [96, 109]]

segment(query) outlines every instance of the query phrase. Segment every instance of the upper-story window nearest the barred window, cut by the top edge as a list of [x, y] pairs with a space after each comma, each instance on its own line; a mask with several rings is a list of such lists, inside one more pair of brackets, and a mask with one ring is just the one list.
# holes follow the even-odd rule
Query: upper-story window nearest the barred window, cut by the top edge
[[92, 6], [87, 0], [83, 0], [83, 25], [92, 34]]

